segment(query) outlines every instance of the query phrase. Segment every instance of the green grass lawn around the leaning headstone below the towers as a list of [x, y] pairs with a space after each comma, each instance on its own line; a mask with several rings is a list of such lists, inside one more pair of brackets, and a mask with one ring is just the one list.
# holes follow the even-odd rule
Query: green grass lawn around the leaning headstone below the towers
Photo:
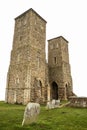
[[86, 108], [56, 108], [41, 112], [36, 123], [21, 125], [25, 106], [0, 102], [0, 130], [87, 130]]

